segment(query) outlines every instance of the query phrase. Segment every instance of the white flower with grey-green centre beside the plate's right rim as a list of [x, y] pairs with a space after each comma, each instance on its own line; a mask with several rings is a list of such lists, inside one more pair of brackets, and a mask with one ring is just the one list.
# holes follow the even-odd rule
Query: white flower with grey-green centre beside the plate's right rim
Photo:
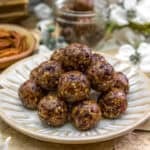
[[141, 43], [137, 49], [128, 44], [123, 45], [116, 57], [122, 61], [130, 61], [143, 72], [150, 73], [150, 44], [148, 43]]

